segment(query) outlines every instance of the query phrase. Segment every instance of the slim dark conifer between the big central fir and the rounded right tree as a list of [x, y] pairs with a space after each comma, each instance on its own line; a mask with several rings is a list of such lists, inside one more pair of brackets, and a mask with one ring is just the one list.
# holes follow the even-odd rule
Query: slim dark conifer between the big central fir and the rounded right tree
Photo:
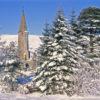
[[74, 31], [74, 36], [76, 37], [74, 42], [77, 44], [77, 52], [80, 53], [80, 54], [83, 54], [84, 53], [84, 38], [83, 38], [83, 35], [82, 35], [82, 30], [79, 26], [79, 21], [78, 21], [78, 18], [75, 14], [75, 11], [73, 10], [71, 12], [71, 19], [70, 19], [70, 25], [71, 25], [71, 28], [72, 30]]

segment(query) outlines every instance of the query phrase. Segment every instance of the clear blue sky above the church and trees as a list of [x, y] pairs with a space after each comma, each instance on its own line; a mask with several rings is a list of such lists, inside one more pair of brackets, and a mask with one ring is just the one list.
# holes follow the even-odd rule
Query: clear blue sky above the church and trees
[[73, 9], [78, 15], [88, 6], [100, 7], [100, 0], [0, 0], [0, 34], [18, 33], [23, 8], [28, 31], [36, 35], [41, 34], [46, 20], [54, 20], [59, 7], [69, 18]]

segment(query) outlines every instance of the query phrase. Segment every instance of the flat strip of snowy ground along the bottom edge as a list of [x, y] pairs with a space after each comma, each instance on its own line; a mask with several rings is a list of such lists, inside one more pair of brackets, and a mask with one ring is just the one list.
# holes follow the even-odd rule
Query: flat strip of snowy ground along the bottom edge
[[0, 93], [0, 100], [100, 100], [100, 97], [67, 97], [66, 95], [50, 95], [43, 96], [41, 94], [21, 95], [21, 94], [2, 94]]

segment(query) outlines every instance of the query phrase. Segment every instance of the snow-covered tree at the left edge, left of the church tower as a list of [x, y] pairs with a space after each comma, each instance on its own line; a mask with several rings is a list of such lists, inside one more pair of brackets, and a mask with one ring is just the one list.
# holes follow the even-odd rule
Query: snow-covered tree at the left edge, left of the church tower
[[17, 46], [14, 42], [9, 45], [0, 42], [0, 87], [1, 92], [11, 92], [17, 89], [16, 77], [20, 75], [20, 61], [17, 57]]

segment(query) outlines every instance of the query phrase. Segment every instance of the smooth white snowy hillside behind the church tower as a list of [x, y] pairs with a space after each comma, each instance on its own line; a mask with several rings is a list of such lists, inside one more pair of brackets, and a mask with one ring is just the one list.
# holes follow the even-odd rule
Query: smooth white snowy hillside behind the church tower
[[[36, 50], [41, 43], [41, 40], [38, 35], [29, 35], [29, 46], [32, 50]], [[9, 44], [11, 41], [18, 43], [18, 35], [1, 35], [2, 41], [7, 41]]]

